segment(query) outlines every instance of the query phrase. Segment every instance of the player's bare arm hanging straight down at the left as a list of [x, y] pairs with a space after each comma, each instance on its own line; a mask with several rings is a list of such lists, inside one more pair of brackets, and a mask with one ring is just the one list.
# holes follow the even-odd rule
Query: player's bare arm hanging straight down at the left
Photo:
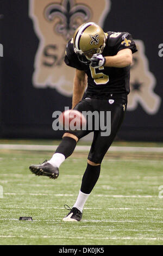
[[76, 69], [73, 81], [72, 108], [74, 108], [77, 103], [82, 100], [86, 84], [85, 71]]

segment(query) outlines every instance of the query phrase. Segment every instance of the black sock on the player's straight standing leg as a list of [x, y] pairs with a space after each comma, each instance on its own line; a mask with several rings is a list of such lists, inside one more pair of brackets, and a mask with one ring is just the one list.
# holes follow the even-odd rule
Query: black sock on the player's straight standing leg
[[80, 190], [85, 194], [90, 194], [93, 187], [95, 186], [101, 169], [101, 164], [98, 166], [91, 166], [91, 164], [87, 164], [85, 173], [82, 179], [82, 186]]

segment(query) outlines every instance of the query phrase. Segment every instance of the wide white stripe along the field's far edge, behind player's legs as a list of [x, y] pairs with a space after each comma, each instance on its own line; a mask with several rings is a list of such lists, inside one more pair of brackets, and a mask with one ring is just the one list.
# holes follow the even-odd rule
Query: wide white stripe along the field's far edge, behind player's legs
[[[54, 151], [58, 145], [26, 145], [26, 144], [0, 144], [0, 149], [14, 150], [39, 150], [39, 151]], [[75, 151], [89, 151], [91, 146], [77, 145]], [[115, 147], [109, 149], [110, 152], [143, 152], [143, 153], [163, 153], [163, 147]]]

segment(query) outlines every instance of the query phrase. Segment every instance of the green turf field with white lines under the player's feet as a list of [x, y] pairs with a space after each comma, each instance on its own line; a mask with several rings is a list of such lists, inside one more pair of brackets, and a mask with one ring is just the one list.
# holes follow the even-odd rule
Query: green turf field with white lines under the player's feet
[[[72, 207], [78, 196], [86, 154], [67, 159], [57, 180], [30, 173], [30, 164], [51, 155], [0, 150], [0, 245], [163, 244], [160, 155], [108, 154], [83, 219], [77, 223], [62, 218], [68, 213], [64, 204]], [[18, 221], [20, 216], [32, 216], [33, 222]]]

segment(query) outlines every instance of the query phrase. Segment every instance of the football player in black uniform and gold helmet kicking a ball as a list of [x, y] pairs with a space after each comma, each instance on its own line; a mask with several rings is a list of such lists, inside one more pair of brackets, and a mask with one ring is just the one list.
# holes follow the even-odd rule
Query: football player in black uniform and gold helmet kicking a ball
[[[111, 133], [94, 136], [87, 167], [76, 203], [63, 221], [80, 221], [84, 204], [95, 186], [101, 162], [122, 124], [129, 94], [130, 65], [136, 45], [128, 32], [107, 32], [94, 22], [84, 23], [66, 46], [65, 63], [76, 69], [73, 84], [72, 108], [82, 111], [111, 112]], [[85, 88], [86, 94], [83, 98]], [[83, 99], [82, 99], [83, 98]], [[91, 130], [66, 131], [55, 154], [49, 161], [30, 166], [36, 175], [56, 179], [59, 166], [70, 156], [78, 140]]]

